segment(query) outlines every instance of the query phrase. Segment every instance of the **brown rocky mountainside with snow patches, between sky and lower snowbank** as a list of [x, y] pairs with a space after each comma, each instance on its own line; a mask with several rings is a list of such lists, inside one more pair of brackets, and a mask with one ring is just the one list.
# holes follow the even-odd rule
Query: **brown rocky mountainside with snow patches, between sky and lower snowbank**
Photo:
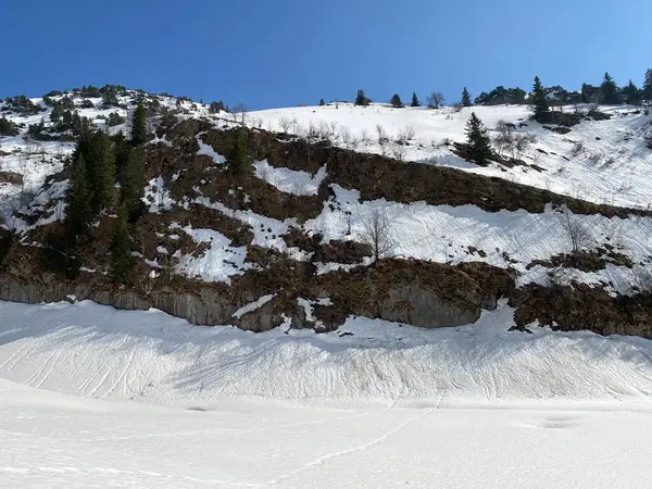
[[[106, 98], [35, 99], [30, 115], [15, 102], [0, 106], [24, 124], [0, 140], [2, 171], [26, 176], [24, 187], [2, 188], [5, 227], [18, 237], [8, 241], [14, 246], [4, 253], [0, 297], [73, 294], [156, 306], [198, 324], [261, 330], [290, 321], [329, 330], [351, 314], [461, 325], [504, 296], [521, 328], [539, 319], [564, 329], [652, 334], [652, 222], [642, 178], [652, 152], [650, 116], [639, 109], [587, 108], [573, 112], [578, 124], [569, 128], [544, 128], [524, 106], [339, 103], [228, 114], [129, 90]], [[111, 212], [82, 249], [82, 275], [53, 279], [38, 250], [65, 215], [73, 146], [35, 149], [34, 138], [74, 139], [74, 127], [57, 133], [55, 122], [45, 122], [52, 118], [48, 103], [72, 103], [100, 126], [115, 113], [124, 123], [106, 130], [117, 133], [129, 129], [139, 98], [153, 139], [138, 150], [149, 183], [148, 213], [133, 234], [137, 284], [125, 290], [106, 277]], [[506, 121], [511, 137], [527, 135], [526, 143], [511, 154], [502, 148], [487, 165], [465, 161], [471, 110], [489, 127]], [[41, 117], [41, 127], [29, 127]], [[253, 164], [235, 175], [225, 161], [244, 126]], [[376, 263], [368, 226], [378, 216], [387, 229]]]

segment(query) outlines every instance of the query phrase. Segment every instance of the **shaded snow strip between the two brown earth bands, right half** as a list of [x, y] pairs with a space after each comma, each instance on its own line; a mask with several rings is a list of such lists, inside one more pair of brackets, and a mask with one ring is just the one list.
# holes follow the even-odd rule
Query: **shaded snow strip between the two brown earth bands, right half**
[[[522, 274], [521, 285], [543, 283], [542, 267], [527, 269], [534, 260], [549, 260], [559, 253], [570, 253], [564, 215], [548, 205], [543, 213], [526, 211], [487, 212], [475, 205], [428, 205], [425, 202], [403, 204], [386, 201], [360, 201], [360, 192], [334, 184], [335, 199], [324, 203], [322, 214], [303, 225], [318, 231], [323, 241], [364, 241], [365, 222], [375, 211], [384, 212], [390, 225], [389, 239], [393, 247], [388, 255], [414, 258], [439, 263], [459, 264], [484, 261], [499, 267], [510, 267]], [[567, 276], [586, 284], [611, 283], [612, 292], [630, 293], [632, 285], [649, 274], [640, 263], [652, 255], [652, 220], [630, 216], [574, 215], [586, 231], [588, 249], [611, 242], [619, 252], [631, 258], [634, 268], [607, 264], [604, 271]], [[349, 234], [350, 229], [350, 234]], [[471, 253], [475, 248], [486, 253]], [[505, 254], [506, 252], [506, 254]], [[516, 263], [514, 263], [516, 261]], [[346, 268], [343, 265], [321, 265], [318, 273]]]

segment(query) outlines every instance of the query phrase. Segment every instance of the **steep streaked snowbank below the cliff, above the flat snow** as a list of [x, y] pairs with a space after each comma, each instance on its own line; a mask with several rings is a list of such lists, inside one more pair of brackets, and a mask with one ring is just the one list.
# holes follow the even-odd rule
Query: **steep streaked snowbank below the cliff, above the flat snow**
[[208, 408], [247, 398], [338, 406], [546, 399], [652, 402], [652, 341], [507, 333], [512, 309], [424, 330], [349, 318], [338, 330], [191, 327], [91, 302], [0, 303], [0, 378], [87, 398]]

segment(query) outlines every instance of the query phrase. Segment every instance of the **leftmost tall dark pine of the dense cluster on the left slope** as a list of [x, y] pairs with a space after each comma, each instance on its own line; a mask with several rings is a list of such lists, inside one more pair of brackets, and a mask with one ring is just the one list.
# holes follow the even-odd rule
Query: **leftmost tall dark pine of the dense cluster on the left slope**
[[84, 154], [78, 154], [75, 159], [72, 183], [65, 196], [65, 203], [66, 234], [74, 240], [88, 230], [92, 218], [90, 188]]

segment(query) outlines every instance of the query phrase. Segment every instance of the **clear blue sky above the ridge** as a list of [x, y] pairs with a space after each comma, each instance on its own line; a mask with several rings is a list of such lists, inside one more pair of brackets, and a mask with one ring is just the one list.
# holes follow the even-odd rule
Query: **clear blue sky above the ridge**
[[106, 83], [250, 109], [642, 83], [652, 1], [0, 0], [0, 98]]

